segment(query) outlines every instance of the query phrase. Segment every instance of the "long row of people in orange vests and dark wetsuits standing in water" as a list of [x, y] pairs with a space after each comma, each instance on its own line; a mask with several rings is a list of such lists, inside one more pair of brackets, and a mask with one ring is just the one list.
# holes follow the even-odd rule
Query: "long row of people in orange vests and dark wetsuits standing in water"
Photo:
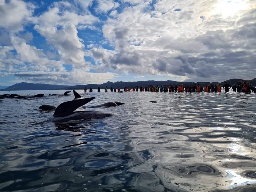
[[[169, 86], [164, 85], [164, 86], [136, 86], [136, 87], [132, 87], [132, 89], [130, 87], [124, 87], [124, 92], [130, 92], [130, 91], [148, 91], [148, 92], [187, 92], [187, 93], [192, 93], [192, 92], [221, 92], [222, 88], [225, 90], [225, 92], [229, 92], [230, 89], [232, 89], [234, 92], [238, 92], [238, 93], [256, 93], [256, 88], [252, 86], [252, 84], [250, 84], [247, 81], [238, 81], [237, 84], [234, 84], [233, 86], [231, 86], [230, 84], [228, 84], [227, 82], [225, 82], [225, 84], [223, 86], [221, 86], [221, 84], [217, 83], [217, 84], [206, 84], [204, 87], [199, 84], [197, 84], [197, 86], [195, 84], [193, 84], [193, 86], [189, 85], [183, 85], [183, 84], [175, 84], [175, 86], [173, 86], [173, 84], [170, 84]], [[108, 92], [108, 87], [105, 87], [105, 92]], [[98, 92], [100, 92], [101, 89], [98, 87]], [[110, 88], [110, 92], [123, 92], [120, 90], [120, 87], [118, 87], [118, 89], [116, 90], [116, 88]], [[86, 87], [84, 87], [84, 92], [87, 92]], [[93, 89], [90, 88], [89, 92], [93, 92]]]

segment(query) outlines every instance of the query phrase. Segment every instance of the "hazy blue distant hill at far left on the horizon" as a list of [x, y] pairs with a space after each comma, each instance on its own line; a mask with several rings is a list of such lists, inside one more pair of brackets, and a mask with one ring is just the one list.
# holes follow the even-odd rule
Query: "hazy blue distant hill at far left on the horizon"
[[12, 86], [9, 86], [1, 91], [14, 91], [14, 90], [58, 90], [66, 85], [52, 85], [52, 84], [42, 84], [42, 83], [17, 83]]

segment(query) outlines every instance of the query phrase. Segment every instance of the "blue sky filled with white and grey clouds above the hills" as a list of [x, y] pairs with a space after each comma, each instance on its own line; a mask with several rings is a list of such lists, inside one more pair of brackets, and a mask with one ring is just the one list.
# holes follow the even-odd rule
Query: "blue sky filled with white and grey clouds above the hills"
[[255, 0], [0, 0], [0, 85], [255, 74]]

